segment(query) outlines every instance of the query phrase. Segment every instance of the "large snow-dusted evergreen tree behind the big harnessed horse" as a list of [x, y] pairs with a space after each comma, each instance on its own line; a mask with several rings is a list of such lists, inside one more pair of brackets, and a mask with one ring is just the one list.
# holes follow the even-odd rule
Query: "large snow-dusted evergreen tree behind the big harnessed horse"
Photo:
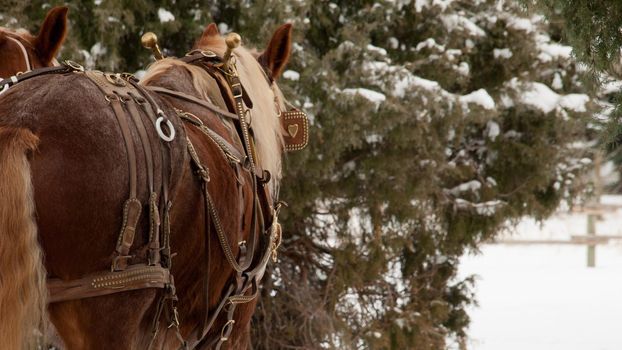
[[[10, 14], [29, 23], [21, 21], [42, 18], [42, 4]], [[294, 23], [280, 86], [309, 113], [311, 143], [285, 161], [289, 208], [253, 324], [258, 349], [436, 350], [461, 341], [475, 299], [472, 278], [457, 276], [459, 258], [508, 222], [572, 200], [590, 163], [600, 107], [557, 28], [515, 3], [70, 6], [64, 56], [90, 55], [100, 69], [146, 67], [138, 43], [146, 30], [179, 56], [211, 20], [259, 46], [278, 24]], [[171, 17], [160, 9], [175, 20], [162, 21]]]

